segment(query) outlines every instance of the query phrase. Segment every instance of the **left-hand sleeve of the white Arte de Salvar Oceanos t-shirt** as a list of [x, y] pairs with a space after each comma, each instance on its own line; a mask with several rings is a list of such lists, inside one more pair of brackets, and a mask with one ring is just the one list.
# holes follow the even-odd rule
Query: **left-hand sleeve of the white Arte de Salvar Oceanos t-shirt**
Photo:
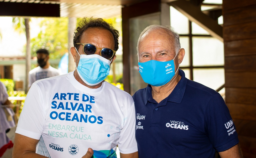
[[38, 86], [33, 84], [25, 99], [16, 133], [40, 139], [45, 123], [45, 106], [41, 96]]

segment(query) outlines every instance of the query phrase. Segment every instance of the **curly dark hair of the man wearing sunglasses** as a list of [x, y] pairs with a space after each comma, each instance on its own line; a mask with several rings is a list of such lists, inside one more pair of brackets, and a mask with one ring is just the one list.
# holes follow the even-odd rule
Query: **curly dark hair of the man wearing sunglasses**
[[102, 28], [109, 30], [113, 36], [114, 36], [114, 42], [115, 42], [115, 48], [114, 50], [118, 50], [118, 37], [119, 37], [119, 31], [116, 30], [112, 24], [104, 21], [102, 18], [87, 18], [84, 17], [78, 24], [79, 26], [74, 32], [74, 38], [73, 38], [73, 44], [74, 47], [78, 49], [79, 45], [76, 45], [76, 43], [80, 43], [81, 36], [85, 30], [88, 28]]

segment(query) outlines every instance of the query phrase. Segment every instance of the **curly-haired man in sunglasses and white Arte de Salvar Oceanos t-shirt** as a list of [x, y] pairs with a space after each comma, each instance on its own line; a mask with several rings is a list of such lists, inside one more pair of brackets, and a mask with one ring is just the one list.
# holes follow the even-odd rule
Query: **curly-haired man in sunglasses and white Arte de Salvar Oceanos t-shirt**
[[117, 145], [121, 158], [138, 157], [133, 99], [104, 81], [116, 58], [118, 37], [103, 19], [83, 18], [70, 49], [76, 70], [31, 86], [13, 158], [117, 157]]

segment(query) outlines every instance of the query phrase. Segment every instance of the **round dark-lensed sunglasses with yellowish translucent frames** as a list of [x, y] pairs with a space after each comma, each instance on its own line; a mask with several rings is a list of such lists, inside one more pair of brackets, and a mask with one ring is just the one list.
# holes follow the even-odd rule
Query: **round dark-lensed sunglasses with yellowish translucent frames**
[[99, 48], [89, 43], [76, 43], [76, 45], [83, 45], [83, 52], [85, 55], [95, 54], [97, 49], [100, 49], [100, 56], [108, 60], [112, 59], [116, 52], [110, 48]]

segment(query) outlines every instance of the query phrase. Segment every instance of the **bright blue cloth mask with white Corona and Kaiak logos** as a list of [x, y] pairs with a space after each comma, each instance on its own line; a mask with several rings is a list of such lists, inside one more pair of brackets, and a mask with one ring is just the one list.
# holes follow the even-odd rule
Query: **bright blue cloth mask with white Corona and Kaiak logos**
[[138, 70], [144, 82], [152, 86], [163, 86], [173, 78], [179, 69], [178, 66], [176, 72], [174, 72], [175, 66], [173, 60], [164, 62], [156, 60], [138, 62]]

